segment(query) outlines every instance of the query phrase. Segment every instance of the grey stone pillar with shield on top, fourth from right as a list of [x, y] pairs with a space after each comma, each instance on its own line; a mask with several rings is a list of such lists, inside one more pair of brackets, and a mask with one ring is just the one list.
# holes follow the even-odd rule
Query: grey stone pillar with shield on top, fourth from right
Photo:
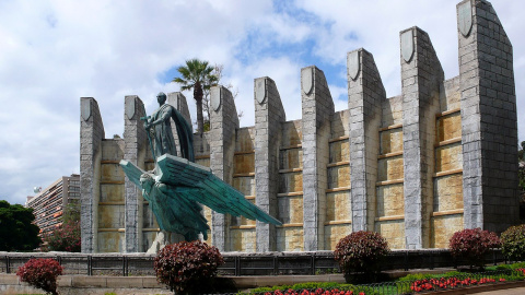
[[303, 110], [303, 228], [304, 250], [324, 249], [327, 168], [334, 101], [322, 70], [301, 69]]

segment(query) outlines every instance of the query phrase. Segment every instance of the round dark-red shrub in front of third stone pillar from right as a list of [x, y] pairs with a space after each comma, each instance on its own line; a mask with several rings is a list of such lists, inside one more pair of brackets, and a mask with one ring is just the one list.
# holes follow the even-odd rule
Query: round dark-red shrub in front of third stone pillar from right
[[[388, 252], [388, 243], [380, 234], [360, 231], [341, 238], [334, 256], [347, 282], [368, 282], [377, 279], [380, 262]], [[352, 275], [360, 272], [361, 278]]]

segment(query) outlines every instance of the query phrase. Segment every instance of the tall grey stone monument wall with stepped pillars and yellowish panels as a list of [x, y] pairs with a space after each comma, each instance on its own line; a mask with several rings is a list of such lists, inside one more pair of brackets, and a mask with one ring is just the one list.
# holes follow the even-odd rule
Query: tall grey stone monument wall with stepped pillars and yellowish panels
[[[347, 56], [348, 109], [334, 110], [315, 66], [301, 70], [302, 118], [287, 121], [278, 86], [254, 81], [255, 126], [238, 126], [232, 94], [211, 91], [211, 130], [196, 133], [196, 162], [282, 226], [205, 208], [221, 251], [332, 250], [353, 231], [393, 249], [445, 248], [463, 228], [501, 232], [518, 220], [517, 123], [512, 46], [488, 1], [457, 5], [459, 75], [445, 80], [430, 36], [399, 34], [401, 94], [386, 97], [371, 52]], [[395, 49], [393, 49], [395, 50]], [[190, 121], [186, 98], [168, 103]], [[94, 98], [81, 98], [82, 251], [145, 251], [159, 225], [122, 158], [153, 168], [125, 97], [124, 139], [105, 139]], [[176, 133], [176, 132], [174, 132]]]

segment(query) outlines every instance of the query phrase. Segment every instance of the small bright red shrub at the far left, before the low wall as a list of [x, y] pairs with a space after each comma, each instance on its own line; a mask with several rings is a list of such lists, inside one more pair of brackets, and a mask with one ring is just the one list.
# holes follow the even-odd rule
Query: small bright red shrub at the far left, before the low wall
[[44, 290], [46, 293], [57, 293], [57, 276], [62, 274], [62, 267], [55, 259], [30, 259], [20, 267], [16, 275], [22, 282]]

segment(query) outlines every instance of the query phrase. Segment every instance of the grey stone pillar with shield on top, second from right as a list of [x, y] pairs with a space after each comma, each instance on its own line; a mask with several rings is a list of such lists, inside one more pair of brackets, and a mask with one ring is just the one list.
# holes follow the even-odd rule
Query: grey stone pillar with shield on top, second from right
[[420, 249], [430, 245], [435, 114], [444, 74], [425, 32], [402, 31], [400, 44], [406, 247]]

